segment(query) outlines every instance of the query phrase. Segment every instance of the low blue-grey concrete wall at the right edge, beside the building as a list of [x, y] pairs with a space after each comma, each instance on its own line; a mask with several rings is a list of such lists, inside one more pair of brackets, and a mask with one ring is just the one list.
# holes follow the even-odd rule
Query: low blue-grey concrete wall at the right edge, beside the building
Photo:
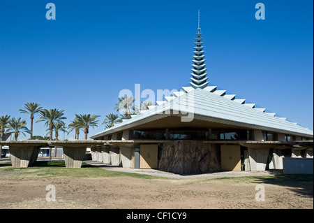
[[284, 174], [313, 174], [312, 158], [283, 158]]

